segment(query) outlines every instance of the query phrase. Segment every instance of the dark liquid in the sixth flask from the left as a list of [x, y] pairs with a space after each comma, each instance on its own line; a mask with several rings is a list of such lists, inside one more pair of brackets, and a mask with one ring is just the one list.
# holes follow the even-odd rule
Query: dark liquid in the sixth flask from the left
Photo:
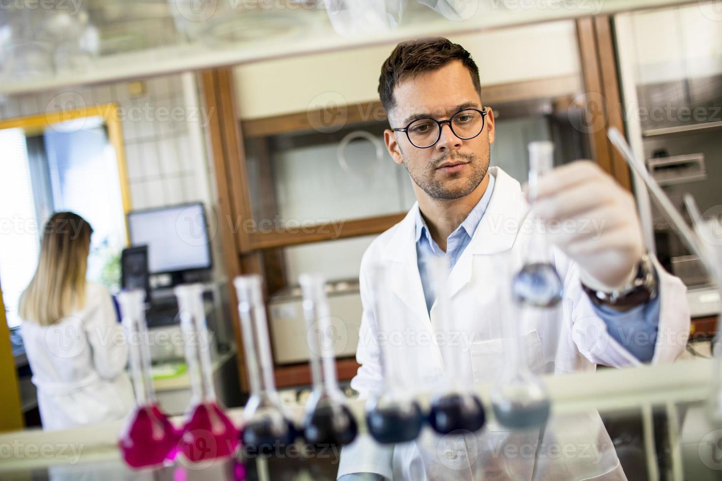
[[446, 394], [432, 402], [429, 412], [429, 424], [440, 434], [461, 429], [474, 433], [486, 419], [482, 402], [473, 394]]

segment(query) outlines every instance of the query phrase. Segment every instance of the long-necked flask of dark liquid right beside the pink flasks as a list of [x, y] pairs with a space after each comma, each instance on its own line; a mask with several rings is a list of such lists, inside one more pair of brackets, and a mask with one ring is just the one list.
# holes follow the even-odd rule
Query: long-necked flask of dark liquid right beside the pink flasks
[[252, 451], [270, 451], [273, 446], [292, 444], [297, 431], [276, 390], [261, 276], [239, 275], [233, 284], [251, 382], [251, 397], [243, 410], [242, 441]]

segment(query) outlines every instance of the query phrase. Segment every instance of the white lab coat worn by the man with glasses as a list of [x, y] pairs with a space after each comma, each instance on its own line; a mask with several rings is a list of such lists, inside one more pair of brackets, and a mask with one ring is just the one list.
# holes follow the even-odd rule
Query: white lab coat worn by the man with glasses
[[[529, 235], [520, 229], [529, 212], [521, 186], [498, 167], [490, 167], [496, 184], [487, 211], [473, 239], [449, 275], [451, 314], [455, 327], [472, 340], [464, 353], [465, 368], [475, 384], [491, 383], [503, 371], [503, 335], [499, 299], [502, 286], [495, 283], [491, 256], [510, 251], [514, 262], [521, 262]], [[437, 305], [427, 312], [417, 268], [414, 244], [414, 209], [396, 226], [380, 234], [368, 247], [361, 262], [360, 284], [363, 317], [357, 361], [361, 364], [351, 382], [360, 396], [380, 389], [378, 334], [375, 322], [374, 286], [370, 268], [382, 262], [387, 268], [389, 296], [400, 315], [393, 316], [399, 332], [435, 330]], [[656, 260], [654, 260], [656, 262]], [[523, 332], [529, 365], [536, 374], [565, 374], [594, 371], [596, 364], [636, 366], [634, 358], [606, 332], [591, 301], [580, 287], [578, 266], [561, 252], [554, 252], [554, 263], [564, 280], [564, 297], [556, 314], [535, 319], [534, 327]], [[656, 262], [659, 275], [661, 312], [653, 363], [674, 361], [682, 350], [690, 329], [686, 288], [678, 278], [666, 273]], [[426, 337], [426, 338], [428, 338]], [[421, 338], [421, 337], [419, 337]], [[422, 345], [423, 344], [423, 345]], [[442, 350], [434, 343], [406, 347], [408, 375], [419, 389], [433, 389], [443, 373]], [[495, 423], [476, 436], [467, 433], [438, 436], [429, 428], [417, 441], [391, 447], [373, 443], [368, 435], [342, 451], [338, 476], [353, 472], [375, 472], [393, 480], [530, 480], [534, 456], [518, 454], [536, 446], [539, 431], [505, 431]], [[626, 480], [614, 446], [601, 423], [599, 413], [554, 416], [541, 444], [536, 479]], [[510, 451], [505, 451], [511, 447]], [[566, 449], [562, 456], [556, 451]], [[533, 452], [533, 451], [532, 451]], [[516, 454], [515, 454], [516, 453]]]

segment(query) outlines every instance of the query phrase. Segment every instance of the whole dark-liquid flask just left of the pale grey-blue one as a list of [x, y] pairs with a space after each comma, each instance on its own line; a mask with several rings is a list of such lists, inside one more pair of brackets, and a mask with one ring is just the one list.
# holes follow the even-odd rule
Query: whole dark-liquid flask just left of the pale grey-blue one
[[[451, 309], [451, 296], [448, 291], [448, 261], [436, 257], [431, 262], [435, 286], [436, 316], [432, 319], [436, 330], [451, 333], [456, 330]], [[451, 336], [445, 336], [449, 338]], [[472, 390], [474, 377], [471, 364], [464, 360], [464, 353], [457, 345], [451, 343], [440, 346], [446, 366], [445, 379], [448, 384], [441, 392], [435, 394], [429, 410], [429, 424], [440, 434], [466, 430], [472, 433], [479, 431], [486, 423], [486, 412], [477, 394]], [[468, 356], [468, 354], [467, 354]], [[443, 384], [442, 384], [443, 386]]]

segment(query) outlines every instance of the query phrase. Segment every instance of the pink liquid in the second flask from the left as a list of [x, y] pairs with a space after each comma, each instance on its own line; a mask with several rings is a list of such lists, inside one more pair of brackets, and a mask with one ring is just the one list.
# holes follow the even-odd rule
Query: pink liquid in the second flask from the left
[[193, 408], [183, 428], [181, 449], [192, 462], [230, 456], [238, 446], [238, 429], [214, 402]]

